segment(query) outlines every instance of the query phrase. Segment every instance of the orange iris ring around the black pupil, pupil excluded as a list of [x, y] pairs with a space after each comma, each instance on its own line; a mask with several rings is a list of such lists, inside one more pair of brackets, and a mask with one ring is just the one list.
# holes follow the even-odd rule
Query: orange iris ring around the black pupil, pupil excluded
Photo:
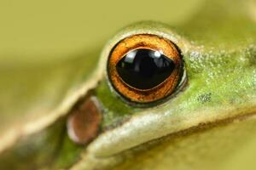
[[[174, 67], [171, 74], [159, 84], [150, 88], [137, 88], [136, 84], [133, 83], [133, 85], [131, 85], [132, 83], [127, 83], [127, 81], [122, 78], [122, 75], [119, 74], [117, 65], [119, 65], [119, 62], [124, 62], [123, 60], [127, 54], [134, 50], [154, 51], [158, 54], [161, 53], [163, 56], [168, 58], [167, 60], [172, 60]], [[143, 104], [166, 98], [174, 92], [175, 88], [177, 88], [182, 75], [182, 57], [176, 46], [165, 37], [159, 37], [151, 34], [138, 34], [126, 37], [113, 47], [108, 57], [108, 77], [113, 88], [121, 96], [131, 102]], [[132, 80], [132, 77], [129, 78], [129, 80]], [[148, 80], [150, 81], [150, 78]]]

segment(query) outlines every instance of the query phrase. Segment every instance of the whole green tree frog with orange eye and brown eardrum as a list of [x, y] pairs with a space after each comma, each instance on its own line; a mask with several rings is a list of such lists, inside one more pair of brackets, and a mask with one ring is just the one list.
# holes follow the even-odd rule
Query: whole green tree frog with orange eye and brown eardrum
[[253, 169], [255, 9], [204, 2], [102, 50], [1, 58], [0, 169]]

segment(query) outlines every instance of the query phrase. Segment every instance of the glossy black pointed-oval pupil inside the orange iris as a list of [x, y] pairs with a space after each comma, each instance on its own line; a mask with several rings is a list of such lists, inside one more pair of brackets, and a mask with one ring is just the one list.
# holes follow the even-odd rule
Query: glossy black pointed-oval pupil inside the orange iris
[[129, 52], [116, 65], [119, 76], [133, 88], [150, 89], [164, 82], [172, 74], [172, 59], [151, 49]]

